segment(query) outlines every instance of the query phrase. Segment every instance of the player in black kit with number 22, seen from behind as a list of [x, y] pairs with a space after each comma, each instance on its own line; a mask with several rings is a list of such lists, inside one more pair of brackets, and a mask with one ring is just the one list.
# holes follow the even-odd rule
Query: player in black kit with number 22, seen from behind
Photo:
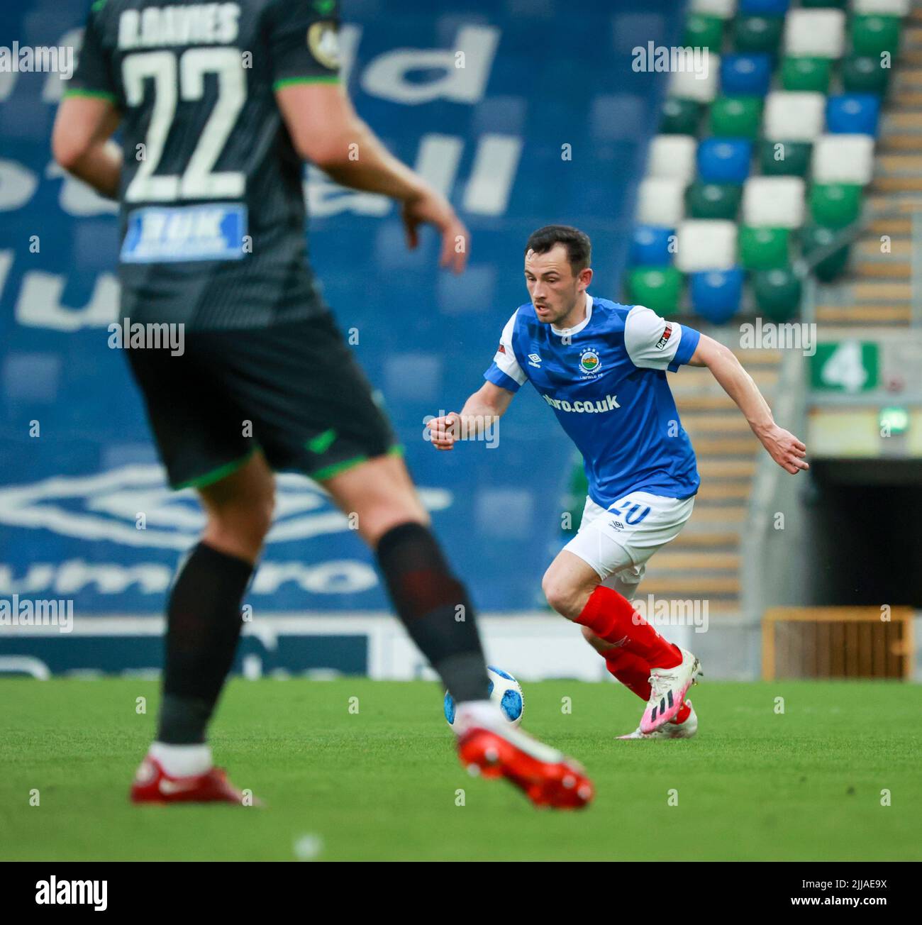
[[466, 260], [449, 203], [356, 115], [337, 36], [336, 0], [96, 0], [55, 121], [57, 162], [121, 204], [122, 318], [183, 326], [181, 354], [127, 356], [170, 485], [195, 487], [207, 515], [167, 603], [158, 729], [131, 797], [240, 801], [206, 730], [272, 523], [273, 471], [297, 470], [358, 515], [394, 610], [458, 705], [462, 764], [535, 805], [582, 807], [580, 766], [487, 697], [470, 600], [307, 260], [304, 161], [397, 200], [410, 247], [429, 224], [442, 266]]

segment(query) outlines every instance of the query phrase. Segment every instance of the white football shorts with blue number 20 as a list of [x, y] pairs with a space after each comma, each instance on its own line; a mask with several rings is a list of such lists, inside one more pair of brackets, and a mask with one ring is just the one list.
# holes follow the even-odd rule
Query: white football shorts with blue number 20
[[607, 579], [612, 578], [636, 588], [646, 561], [679, 536], [694, 507], [694, 495], [663, 498], [647, 491], [632, 491], [608, 510], [586, 498], [579, 532], [564, 549], [591, 565], [605, 584], [611, 586]]

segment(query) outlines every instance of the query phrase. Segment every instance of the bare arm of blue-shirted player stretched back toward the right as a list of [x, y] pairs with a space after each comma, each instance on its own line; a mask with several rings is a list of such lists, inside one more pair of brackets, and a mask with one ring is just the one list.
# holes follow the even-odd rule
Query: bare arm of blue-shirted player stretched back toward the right
[[796, 475], [801, 469], [810, 468], [804, 458], [805, 445], [792, 433], [775, 424], [768, 402], [762, 397], [752, 376], [744, 370], [728, 347], [702, 334], [689, 365], [707, 366], [723, 390], [745, 414], [753, 433], [768, 450], [768, 455], [782, 469]]

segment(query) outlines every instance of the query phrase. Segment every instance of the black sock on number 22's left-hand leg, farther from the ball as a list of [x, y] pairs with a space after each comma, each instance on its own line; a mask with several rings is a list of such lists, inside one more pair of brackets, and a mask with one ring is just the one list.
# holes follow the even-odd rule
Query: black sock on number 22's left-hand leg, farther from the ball
[[157, 741], [198, 745], [215, 711], [240, 639], [248, 561], [204, 543], [178, 574], [166, 610], [164, 697]]

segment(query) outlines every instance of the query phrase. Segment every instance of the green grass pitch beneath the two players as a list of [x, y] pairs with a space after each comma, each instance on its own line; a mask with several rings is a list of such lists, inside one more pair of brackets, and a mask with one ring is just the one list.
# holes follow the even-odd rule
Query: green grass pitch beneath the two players
[[922, 859], [918, 685], [705, 681], [700, 732], [678, 742], [615, 741], [642, 707], [617, 685], [524, 689], [525, 727], [594, 778], [590, 808], [535, 810], [469, 777], [436, 685], [360, 678], [228, 686], [215, 760], [266, 808], [134, 808], [157, 685], [5, 679], [0, 857]]

